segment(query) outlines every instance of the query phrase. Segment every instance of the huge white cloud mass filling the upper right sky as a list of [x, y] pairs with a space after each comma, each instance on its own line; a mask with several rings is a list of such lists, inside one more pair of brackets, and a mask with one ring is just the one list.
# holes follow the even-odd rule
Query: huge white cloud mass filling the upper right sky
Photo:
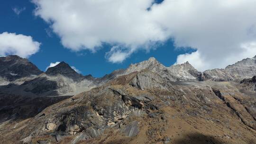
[[[197, 51], [178, 56], [196, 68], [221, 68], [253, 57], [256, 46], [256, 0], [33, 0], [35, 14], [48, 22], [61, 43], [74, 51], [106, 54], [119, 63], [138, 49], [173, 39], [177, 48]], [[150, 8], [150, 9], [149, 9]]]

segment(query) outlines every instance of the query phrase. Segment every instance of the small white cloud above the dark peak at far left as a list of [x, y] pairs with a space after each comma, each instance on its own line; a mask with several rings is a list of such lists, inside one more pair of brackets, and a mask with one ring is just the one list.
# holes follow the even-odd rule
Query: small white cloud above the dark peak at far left
[[26, 58], [37, 53], [39, 47], [40, 43], [34, 41], [31, 36], [8, 32], [0, 34], [0, 56], [16, 54]]

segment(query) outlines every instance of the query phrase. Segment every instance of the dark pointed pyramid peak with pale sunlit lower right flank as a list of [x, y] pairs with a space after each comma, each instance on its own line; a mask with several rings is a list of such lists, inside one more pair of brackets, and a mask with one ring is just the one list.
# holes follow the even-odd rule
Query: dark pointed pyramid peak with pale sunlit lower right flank
[[[91, 75], [82, 76], [67, 63], [61, 62], [33, 78], [24, 78], [21, 84], [12, 83], [0, 88], [9, 94], [26, 96], [74, 95], [95, 87]], [[19, 79], [20, 80], [20, 79]]]

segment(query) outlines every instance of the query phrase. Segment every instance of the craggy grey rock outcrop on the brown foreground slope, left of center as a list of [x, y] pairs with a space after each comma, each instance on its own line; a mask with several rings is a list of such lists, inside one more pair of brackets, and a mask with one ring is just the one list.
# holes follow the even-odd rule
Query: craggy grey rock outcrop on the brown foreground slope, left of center
[[[81, 140], [96, 138], [105, 129], [117, 126], [120, 127], [120, 132], [133, 137], [139, 132], [139, 124], [133, 121], [124, 125], [124, 119], [141, 116], [147, 110], [156, 108], [151, 100], [137, 99], [136, 95], [127, 90], [114, 87], [96, 88], [81, 96], [66, 99], [61, 105], [38, 114], [33, 123], [38, 123], [40, 128], [34, 129], [33, 135], [52, 132], [50, 134], [59, 142], [66, 135], [78, 133], [73, 139], [75, 144]], [[74, 103], [77, 106], [73, 107]]]

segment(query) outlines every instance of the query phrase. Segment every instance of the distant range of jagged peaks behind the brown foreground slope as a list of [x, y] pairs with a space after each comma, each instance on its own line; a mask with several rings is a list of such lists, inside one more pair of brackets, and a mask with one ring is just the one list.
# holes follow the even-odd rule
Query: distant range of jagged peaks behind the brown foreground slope
[[[101, 86], [115, 78], [132, 72], [148, 70], [159, 74], [168, 81], [234, 81], [256, 75], [256, 56], [243, 59], [225, 69], [198, 72], [189, 62], [165, 67], [155, 58], [131, 64], [125, 70], [116, 70], [102, 78], [83, 76], [67, 63], [61, 62], [46, 72], [17, 55], [0, 57], [0, 85], [8, 87], [10, 93], [26, 95], [74, 95]], [[13, 90], [15, 89], [15, 90]], [[18, 91], [17, 91], [18, 90]]]

